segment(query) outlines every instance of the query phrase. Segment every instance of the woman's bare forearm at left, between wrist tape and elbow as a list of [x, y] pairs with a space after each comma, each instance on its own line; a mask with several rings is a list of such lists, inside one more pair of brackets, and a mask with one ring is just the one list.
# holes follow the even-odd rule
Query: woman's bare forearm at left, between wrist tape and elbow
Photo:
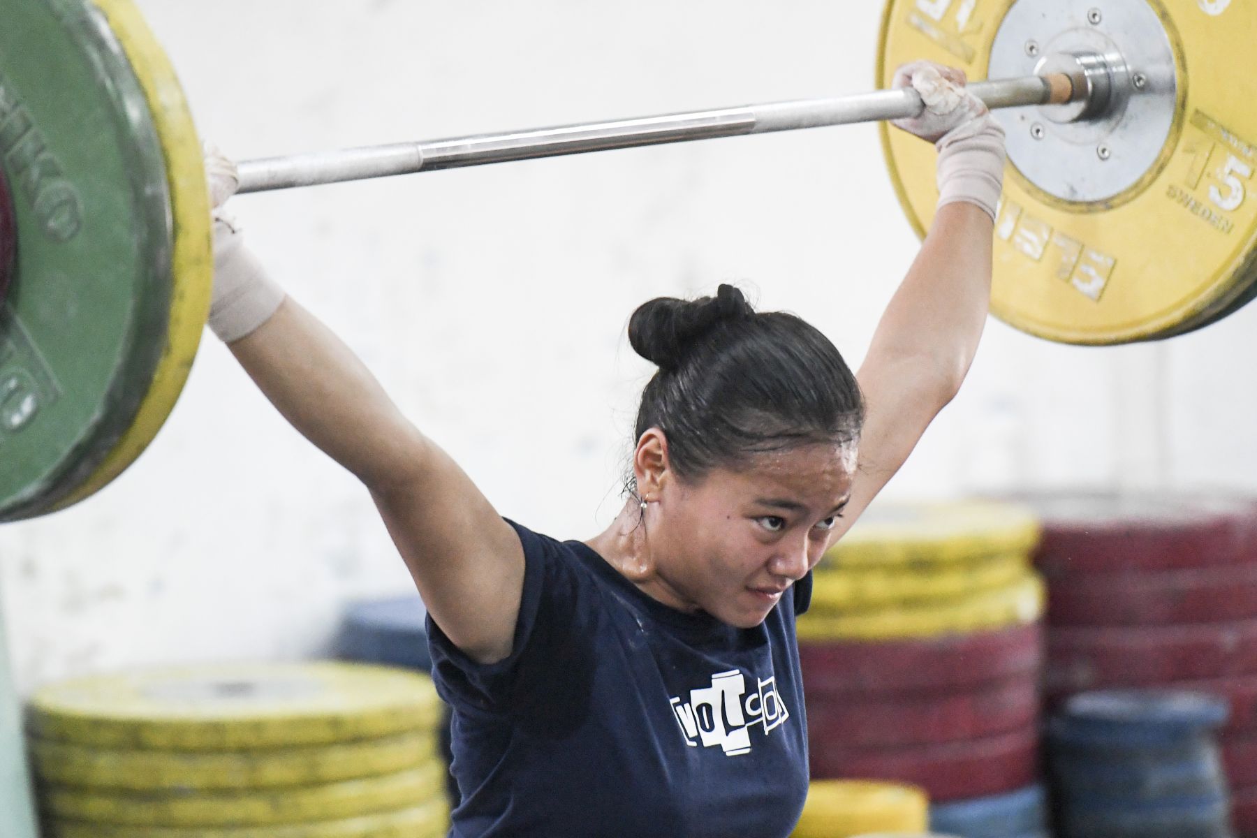
[[292, 298], [229, 348], [293, 427], [372, 490], [387, 491], [421, 467], [422, 435], [357, 356]]

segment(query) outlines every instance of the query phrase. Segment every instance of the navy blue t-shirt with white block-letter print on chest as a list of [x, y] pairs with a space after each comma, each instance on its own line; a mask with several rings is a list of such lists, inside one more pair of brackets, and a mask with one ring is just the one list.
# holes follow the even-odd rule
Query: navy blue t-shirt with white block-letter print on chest
[[807, 797], [794, 617], [755, 628], [642, 593], [579, 541], [524, 547], [514, 650], [484, 666], [429, 618], [454, 707], [454, 838], [784, 837]]

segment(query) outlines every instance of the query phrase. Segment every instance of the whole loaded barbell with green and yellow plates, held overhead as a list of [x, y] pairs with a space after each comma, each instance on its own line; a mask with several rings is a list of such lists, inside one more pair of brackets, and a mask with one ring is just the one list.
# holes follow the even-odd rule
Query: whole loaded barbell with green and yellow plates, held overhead
[[[0, 13], [0, 520], [19, 520], [92, 495], [152, 441], [196, 354], [212, 265], [200, 141], [131, 0]], [[997, 79], [970, 85], [1008, 136], [997, 317], [1125, 343], [1257, 295], [1257, 80], [1234, 72], [1254, 35], [1257, 9], [1229, 0], [887, 3], [882, 88], [916, 58]], [[882, 121], [924, 235], [934, 152], [885, 124], [920, 108], [882, 89], [297, 155], [241, 163], [241, 191]]]

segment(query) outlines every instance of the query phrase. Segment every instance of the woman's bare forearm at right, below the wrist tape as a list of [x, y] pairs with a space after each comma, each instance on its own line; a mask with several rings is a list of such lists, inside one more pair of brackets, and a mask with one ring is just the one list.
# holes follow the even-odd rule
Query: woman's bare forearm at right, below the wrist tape
[[992, 221], [980, 207], [939, 207], [921, 250], [882, 314], [870, 359], [925, 362], [944, 398], [978, 351], [991, 305]]

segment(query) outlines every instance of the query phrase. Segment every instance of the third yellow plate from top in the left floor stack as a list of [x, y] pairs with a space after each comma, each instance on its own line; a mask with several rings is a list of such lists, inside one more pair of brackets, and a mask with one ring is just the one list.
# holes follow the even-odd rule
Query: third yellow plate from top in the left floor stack
[[122, 793], [44, 786], [54, 818], [117, 827], [265, 827], [392, 812], [440, 799], [440, 765], [323, 785], [245, 792]]

